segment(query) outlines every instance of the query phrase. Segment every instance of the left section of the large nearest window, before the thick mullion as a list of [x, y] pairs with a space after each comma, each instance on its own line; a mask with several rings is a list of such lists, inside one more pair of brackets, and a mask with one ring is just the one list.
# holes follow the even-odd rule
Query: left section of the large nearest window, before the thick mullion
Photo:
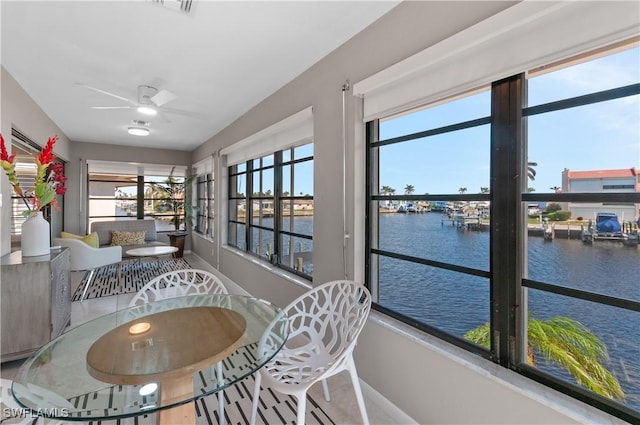
[[[377, 181], [370, 182], [369, 282], [378, 305], [458, 338], [489, 320], [489, 94], [380, 120], [379, 140], [370, 143]], [[463, 231], [471, 226], [484, 231]], [[421, 287], [425, 276], [437, 282], [425, 288], [428, 297], [398, 291], [399, 278]], [[457, 302], [459, 291], [469, 304]]]

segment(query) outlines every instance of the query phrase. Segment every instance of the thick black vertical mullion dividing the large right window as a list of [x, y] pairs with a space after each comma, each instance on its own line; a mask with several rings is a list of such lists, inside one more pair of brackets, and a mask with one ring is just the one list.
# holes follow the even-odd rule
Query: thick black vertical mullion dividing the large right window
[[526, 178], [521, 172], [523, 81], [524, 74], [519, 74], [493, 83], [491, 89], [491, 351], [506, 367], [514, 363], [520, 337], [516, 282], [520, 194]]

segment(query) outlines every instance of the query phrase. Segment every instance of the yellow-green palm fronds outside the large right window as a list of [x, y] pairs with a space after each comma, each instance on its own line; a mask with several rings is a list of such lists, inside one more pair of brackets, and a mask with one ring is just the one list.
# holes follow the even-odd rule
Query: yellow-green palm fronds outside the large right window
[[[584, 325], [569, 317], [539, 320], [529, 317], [527, 363], [536, 364], [536, 353], [566, 369], [578, 385], [604, 397], [624, 400], [616, 377], [602, 365], [608, 360], [607, 347]], [[470, 330], [464, 338], [489, 348], [490, 327], [485, 323]]]

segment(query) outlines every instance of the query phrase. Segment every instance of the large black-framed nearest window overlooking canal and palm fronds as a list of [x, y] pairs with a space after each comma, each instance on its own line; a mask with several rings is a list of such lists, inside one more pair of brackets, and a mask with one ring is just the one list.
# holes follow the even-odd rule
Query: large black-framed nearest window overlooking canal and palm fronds
[[526, 71], [367, 123], [375, 308], [637, 421], [640, 49]]

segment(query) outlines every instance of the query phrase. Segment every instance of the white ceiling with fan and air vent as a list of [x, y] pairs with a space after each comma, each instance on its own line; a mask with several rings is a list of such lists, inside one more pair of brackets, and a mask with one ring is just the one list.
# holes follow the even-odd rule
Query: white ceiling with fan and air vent
[[[397, 3], [194, 0], [185, 14], [148, 0], [2, 0], [1, 59], [73, 141], [192, 150]], [[151, 85], [191, 114], [92, 109], [129, 103], [80, 84], [134, 101]], [[151, 134], [128, 135], [133, 120]]]

